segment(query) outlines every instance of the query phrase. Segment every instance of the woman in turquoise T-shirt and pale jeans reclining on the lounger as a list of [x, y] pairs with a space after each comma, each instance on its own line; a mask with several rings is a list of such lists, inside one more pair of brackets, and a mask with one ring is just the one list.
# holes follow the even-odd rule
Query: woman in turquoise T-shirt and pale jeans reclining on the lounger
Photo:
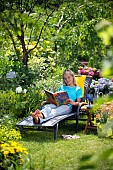
[[78, 106], [82, 98], [82, 89], [76, 85], [74, 73], [71, 70], [65, 70], [62, 78], [63, 85], [60, 86], [59, 91], [67, 91], [69, 99], [66, 100], [65, 105], [56, 106], [50, 103], [46, 104], [42, 110], [37, 109], [32, 113], [35, 123], [42, 123], [58, 115], [69, 114], [72, 111], [72, 105]]

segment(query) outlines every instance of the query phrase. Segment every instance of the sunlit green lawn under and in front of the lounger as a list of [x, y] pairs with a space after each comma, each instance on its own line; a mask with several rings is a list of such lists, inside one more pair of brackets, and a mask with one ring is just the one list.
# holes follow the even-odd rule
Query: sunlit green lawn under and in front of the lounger
[[[57, 140], [53, 133], [26, 131], [22, 134], [21, 143], [29, 151], [32, 170], [77, 170], [80, 159], [84, 155], [100, 154], [113, 148], [112, 139], [98, 138], [94, 130], [83, 133], [85, 124], [82, 123], [77, 135], [80, 139], [65, 140], [62, 134], [75, 134], [75, 124], [72, 121], [62, 123], [59, 127]], [[96, 170], [110, 170], [111, 161], [96, 162]]]

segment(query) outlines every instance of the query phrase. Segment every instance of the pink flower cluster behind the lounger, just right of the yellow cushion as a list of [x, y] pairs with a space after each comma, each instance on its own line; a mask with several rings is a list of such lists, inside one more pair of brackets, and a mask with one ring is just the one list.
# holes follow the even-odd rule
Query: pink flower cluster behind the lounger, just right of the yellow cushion
[[92, 67], [78, 67], [78, 74], [92, 76], [94, 79], [100, 78], [100, 70]]

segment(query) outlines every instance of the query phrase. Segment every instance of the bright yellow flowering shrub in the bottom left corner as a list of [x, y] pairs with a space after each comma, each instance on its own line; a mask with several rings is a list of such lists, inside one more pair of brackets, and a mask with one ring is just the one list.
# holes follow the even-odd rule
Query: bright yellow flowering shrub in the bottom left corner
[[16, 165], [24, 164], [23, 155], [28, 154], [26, 148], [15, 141], [7, 141], [0, 144], [0, 168], [16, 169]]

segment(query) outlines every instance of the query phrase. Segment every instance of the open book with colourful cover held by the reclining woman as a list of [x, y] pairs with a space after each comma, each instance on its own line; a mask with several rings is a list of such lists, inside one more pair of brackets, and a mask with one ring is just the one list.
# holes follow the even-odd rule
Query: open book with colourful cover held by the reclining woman
[[56, 106], [65, 104], [66, 100], [69, 99], [68, 93], [66, 91], [51, 92], [44, 90], [47, 97], [50, 99], [51, 103]]

